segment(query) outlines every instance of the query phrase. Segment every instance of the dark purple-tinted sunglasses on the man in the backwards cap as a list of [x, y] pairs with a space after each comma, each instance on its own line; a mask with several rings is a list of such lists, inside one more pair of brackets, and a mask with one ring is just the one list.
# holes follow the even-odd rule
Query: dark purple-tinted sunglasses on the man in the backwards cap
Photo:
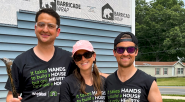
[[130, 47], [116, 47], [116, 48], [115, 48], [116, 52], [119, 53], [119, 54], [124, 53], [125, 50], [127, 50], [127, 52], [128, 52], [129, 54], [132, 54], [132, 53], [135, 52], [136, 49], [137, 49], [137, 48], [134, 47], [134, 46], [130, 46]]

